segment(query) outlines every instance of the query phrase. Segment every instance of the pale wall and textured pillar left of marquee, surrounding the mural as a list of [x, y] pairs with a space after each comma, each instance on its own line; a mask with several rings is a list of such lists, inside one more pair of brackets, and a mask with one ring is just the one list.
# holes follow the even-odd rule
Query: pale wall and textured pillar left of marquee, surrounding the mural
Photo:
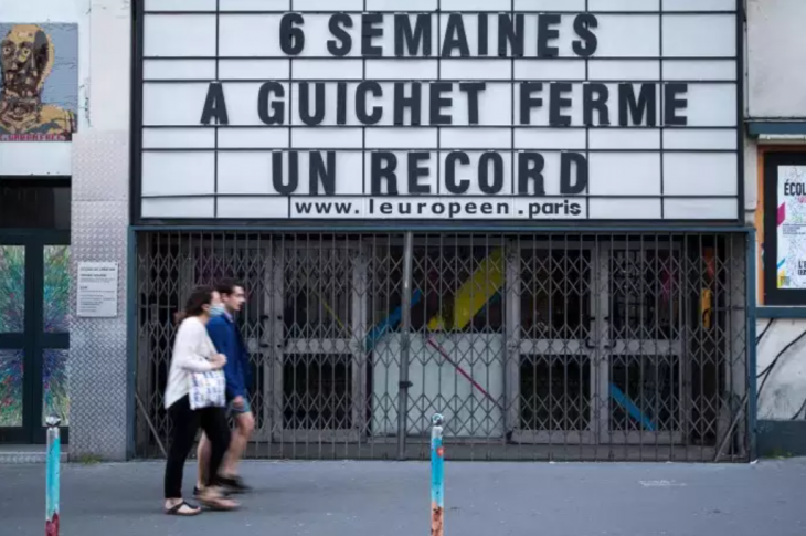
[[[40, 160], [72, 176], [73, 282], [79, 262], [117, 262], [115, 318], [77, 318], [71, 325], [71, 456], [127, 455], [126, 258], [129, 188], [131, 6], [129, 0], [0, 0], [0, 22], [79, 24], [79, 127], [63, 155], [0, 144], [4, 158], [39, 174]], [[30, 145], [30, 144], [28, 144]], [[42, 145], [42, 144], [39, 144]], [[46, 144], [45, 144], [46, 145]], [[52, 148], [51, 148], [52, 149]], [[61, 158], [61, 159], [60, 159]], [[65, 167], [66, 166], [66, 167]], [[24, 170], [24, 169], [23, 169]], [[75, 284], [73, 285], [75, 312]]]

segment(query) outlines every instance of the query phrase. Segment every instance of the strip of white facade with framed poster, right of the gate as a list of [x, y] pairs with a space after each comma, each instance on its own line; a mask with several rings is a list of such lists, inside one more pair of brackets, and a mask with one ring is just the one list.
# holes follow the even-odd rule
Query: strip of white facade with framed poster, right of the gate
[[793, 24], [806, 14], [799, 2], [750, 1], [747, 6], [747, 177], [755, 175], [759, 202], [757, 353], [759, 441], [762, 453], [806, 452], [804, 348], [806, 286], [800, 243], [806, 162], [806, 80], [787, 65], [804, 57]]

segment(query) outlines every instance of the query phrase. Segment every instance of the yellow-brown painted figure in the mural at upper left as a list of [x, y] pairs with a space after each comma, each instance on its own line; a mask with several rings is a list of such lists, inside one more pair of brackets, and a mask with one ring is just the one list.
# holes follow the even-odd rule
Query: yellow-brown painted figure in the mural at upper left
[[76, 129], [75, 114], [42, 104], [42, 91], [55, 57], [50, 35], [34, 24], [14, 25], [0, 43], [0, 136], [71, 139]]

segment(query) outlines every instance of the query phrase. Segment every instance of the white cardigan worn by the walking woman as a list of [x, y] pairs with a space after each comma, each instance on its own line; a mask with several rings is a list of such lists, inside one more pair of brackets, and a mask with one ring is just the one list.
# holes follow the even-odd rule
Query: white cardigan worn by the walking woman
[[210, 359], [218, 351], [204, 324], [195, 316], [182, 320], [173, 341], [173, 357], [165, 395], [166, 409], [190, 392], [191, 374], [213, 370]]

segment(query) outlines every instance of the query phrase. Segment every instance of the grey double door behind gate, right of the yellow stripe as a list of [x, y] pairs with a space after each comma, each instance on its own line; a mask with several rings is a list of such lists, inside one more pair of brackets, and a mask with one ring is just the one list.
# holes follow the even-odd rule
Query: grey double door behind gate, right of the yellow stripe
[[575, 240], [517, 251], [509, 270], [513, 441], [681, 442], [679, 244]]

